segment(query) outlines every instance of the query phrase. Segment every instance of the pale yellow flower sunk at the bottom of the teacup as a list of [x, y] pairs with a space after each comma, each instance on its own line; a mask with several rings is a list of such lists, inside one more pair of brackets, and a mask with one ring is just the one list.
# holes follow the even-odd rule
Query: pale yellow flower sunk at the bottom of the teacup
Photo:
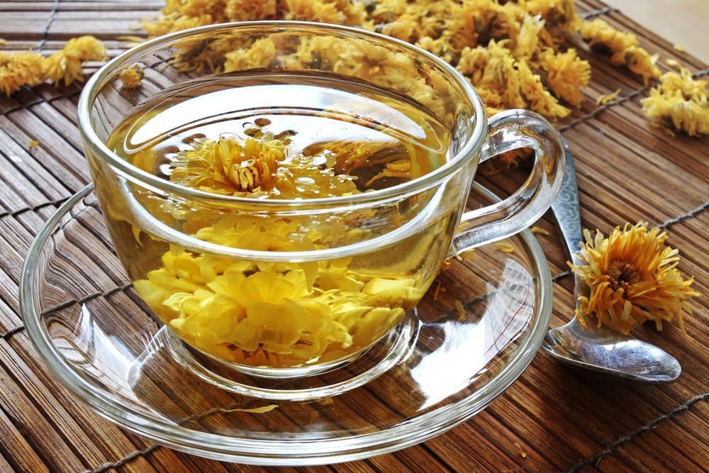
[[263, 350], [309, 360], [320, 356], [329, 341], [352, 345], [345, 326], [333, 320], [330, 306], [309, 295], [302, 272], [246, 275], [227, 269], [205, 289], [174, 293], [163, 304], [179, 314], [170, 325], [212, 353], [216, 347], [225, 352]]

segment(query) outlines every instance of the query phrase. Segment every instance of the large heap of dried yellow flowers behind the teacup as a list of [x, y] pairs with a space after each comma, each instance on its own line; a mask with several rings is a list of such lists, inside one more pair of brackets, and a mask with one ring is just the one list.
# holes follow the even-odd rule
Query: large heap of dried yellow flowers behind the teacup
[[[559, 50], [564, 35], [576, 33], [581, 22], [571, 0], [168, 0], [162, 13], [143, 21], [151, 36], [208, 23], [265, 19], [376, 30], [462, 69], [489, 113], [530, 108], [550, 118], [564, 117], [570, 111], [559, 100], [579, 104], [579, 87], [590, 79], [588, 62], [576, 50]], [[338, 61], [359, 62], [357, 52], [350, 58], [337, 45], [329, 50], [338, 52]]]

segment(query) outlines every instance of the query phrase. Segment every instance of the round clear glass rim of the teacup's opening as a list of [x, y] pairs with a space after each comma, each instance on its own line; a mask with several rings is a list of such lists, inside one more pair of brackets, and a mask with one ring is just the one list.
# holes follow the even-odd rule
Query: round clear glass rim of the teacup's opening
[[[93, 74], [79, 96], [78, 104], [78, 123], [79, 131], [82, 133], [84, 138], [84, 145], [91, 148], [91, 152], [101, 157], [102, 160], [108, 162], [111, 167], [117, 169], [118, 172], [123, 174], [124, 177], [129, 179], [137, 179], [138, 182], [142, 184], [148, 184], [150, 187], [160, 189], [162, 191], [167, 191], [171, 194], [177, 194], [190, 199], [206, 199], [213, 202], [219, 202], [224, 204], [253, 204], [254, 199], [249, 197], [238, 197], [238, 196], [227, 196], [222, 194], [215, 194], [207, 191], [201, 191], [198, 189], [193, 189], [190, 187], [180, 186], [179, 184], [174, 184], [167, 181], [166, 179], [161, 179], [156, 177], [149, 172], [139, 169], [123, 158], [118, 157], [114, 152], [106, 147], [102, 143], [99, 136], [96, 134], [94, 127], [91, 126], [91, 107], [94, 104], [94, 99], [99, 92], [99, 89], [103, 87], [107, 79], [115, 77], [118, 72], [123, 70], [127, 65], [133, 62], [134, 57], [140, 57], [150, 50], [160, 50], [161, 48], [175, 43], [180, 38], [186, 38], [191, 35], [196, 35], [199, 33], [218, 33], [219, 31], [235, 30], [235, 29], [259, 29], [267, 30], [267, 28], [272, 28], [270, 33], [278, 33], [282, 30], [297, 31], [297, 30], [308, 30], [308, 29], [318, 29], [323, 30], [323, 32], [330, 33], [345, 33], [346, 35], [353, 38], [362, 38], [375, 40], [376, 42], [393, 43], [399, 48], [409, 50], [415, 55], [420, 55], [425, 57], [427, 60], [433, 62], [437, 67], [444, 70], [450, 75], [454, 82], [457, 82], [463, 91], [469, 97], [471, 104], [474, 108], [474, 116], [471, 117], [473, 121], [473, 130], [469, 138], [467, 139], [464, 146], [456, 153], [452, 159], [447, 161], [445, 165], [434, 169], [432, 172], [425, 174], [422, 177], [413, 179], [409, 182], [404, 182], [402, 184], [397, 184], [396, 186], [387, 187], [386, 189], [378, 189], [369, 192], [363, 192], [362, 194], [355, 194], [352, 196], [336, 196], [336, 197], [325, 197], [317, 199], [260, 199], [259, 206], [267, 207], [277, 207], [277, 206], [313, 206], [315, 205], [332, 205], [332, 204], [359, 204], [369, 201], [378, 201], [380, 199], [391, 198], [393, 196], [401, 196], [407, 194], [411, 191], [420, 191], [428, 189], [437, 183], [444, 180], [447, 176], [450, 176], [458, 169], [467, 165], [470, 160], [472, 160], [477, 152], [482, 148], [484, 139], [487, 133], [487, 113], [483, 106], [482, 99], [475, 91], [472, 84], [460, 74], [454, 67], [440, 59], [436, 55], [418, 48], [418, 46], [412, 45], [411, 43], [406, 43], [405, 41], [392, 38], [380, 33], [374, 33], [372, 31], [362, 30], [359, 28], [352, 28], [350, 26], [340, 26], [333, 25], [329, 23], [313, 23], [308, 21], [242, 21], [234, 23], [220, 23], [218, 25], [208, 25], [200, 26], [197, 28], [190, 28], [188, 30], [181, 30], [175, 33], [169, 33], [167, 35], [162, 35], [152, 40], [147, 40], [145, 43], [141, 43], [130, 50], [123, 52], [113, 58], [101, 67], [98, 72]], [[473, 119], [474, 118], [474, 119]]]

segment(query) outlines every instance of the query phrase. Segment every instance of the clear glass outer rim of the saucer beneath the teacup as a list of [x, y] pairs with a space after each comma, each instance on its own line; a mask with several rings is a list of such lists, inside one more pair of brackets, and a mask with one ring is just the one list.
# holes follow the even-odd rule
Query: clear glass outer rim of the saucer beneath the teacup
[[[482, 194], [498, 201], [490, 191], [474, 184]], [[375, 455], [401, 450], [440, 435], [453, 428], [488, 406], [498, 394], [522, 374], [532, 362], [539, 349], [552, 315], [552, 277], [542, 247], [529, 229], [518, 233], [520, 242], [526, 248], [530, 264], [538, 270], [535, 277], [537, 287], [536, 310], [540, 317], [531, 329], [525, 345], [520, 347], [518, 355], [507, 365], [501, 374], [476, 391], [474, 398], [468, 397], [453, 404], [436, 408], [419, 418], [408, 420], [386, 430], [348, 438], [330, 438], [316, 440], [256, 440], [238, 437], [225, 438], [223, 435], [179, 430], [179, 425], [167, 419], [149, 416], [138, 408], [119, 405], [111, 396], [107, 396], [87, 380], [73, 373], [72, 367], [64, 360], [62, 353], [52, 343], [47, 328], [42, 323], [42, 315], [35, 307], [33, 295], [38, 284], [38, 262], [43, 248], [52, 234], [67, 216], [71, 208], [93, 191], [89, 184], [74, 194], [40, 228], [35, 240], [30, 245], [25, 264], [22, 268], [19, 299], [23, 321], [30, 340], [32, 340], [41, 359], [60, 381], [74, 392], [79, 399], [89, 404], [94, 411], [104, 418], [127, 428], [139, 435], [150, 438], [183, 452], [208, 457], [213, 460], [241, 462], [247, 464], [275, 466], [303, 466], [313, 464], [331, 464], [362, 460]]]

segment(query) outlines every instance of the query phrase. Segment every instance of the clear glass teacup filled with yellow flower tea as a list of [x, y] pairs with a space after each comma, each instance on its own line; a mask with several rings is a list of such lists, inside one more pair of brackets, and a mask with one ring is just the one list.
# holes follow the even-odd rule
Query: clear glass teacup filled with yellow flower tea
[[[140, 296], [191, 347], [261, 377], [356, 359], [447, 257], [541, 216], [564, 172], [540, 116], [488, 123], [439, 58], [325, 24], [150, 40], [91, 78], [79, 126]], [[523, 187], [465, 213], [478, 163], [522, 147], [537, 155]]]

